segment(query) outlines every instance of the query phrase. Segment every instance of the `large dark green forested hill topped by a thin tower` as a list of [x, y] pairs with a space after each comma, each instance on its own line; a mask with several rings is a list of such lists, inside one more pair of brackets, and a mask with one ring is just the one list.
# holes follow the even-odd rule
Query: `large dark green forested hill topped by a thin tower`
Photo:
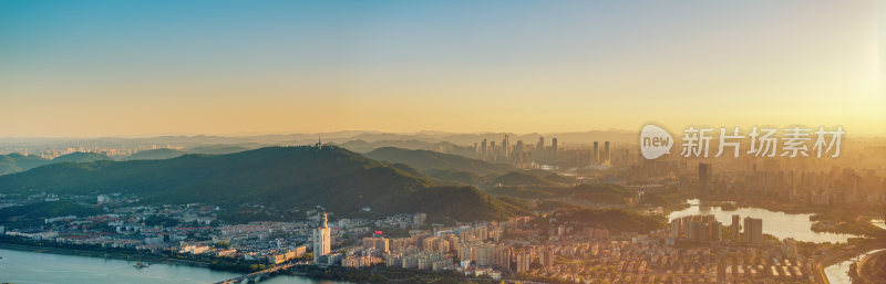
[[[54, 164], [0, 177], [0, 192], [132, 192], [147, 202], [321, 206], [341, 215], [427, 212], [502, 219], [521, 211], [473, 187], [441, 187], [339, 147], [268, 147], [166, 160]], [[370, 207], [370, 212], [361, 209]]]

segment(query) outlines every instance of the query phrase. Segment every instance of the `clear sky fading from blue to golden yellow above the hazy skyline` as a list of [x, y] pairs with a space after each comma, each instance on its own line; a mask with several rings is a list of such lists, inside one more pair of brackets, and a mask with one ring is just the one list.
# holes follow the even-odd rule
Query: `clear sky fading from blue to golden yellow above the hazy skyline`
[[886, 2], [0, 1], [0, 137], [843, 126]]

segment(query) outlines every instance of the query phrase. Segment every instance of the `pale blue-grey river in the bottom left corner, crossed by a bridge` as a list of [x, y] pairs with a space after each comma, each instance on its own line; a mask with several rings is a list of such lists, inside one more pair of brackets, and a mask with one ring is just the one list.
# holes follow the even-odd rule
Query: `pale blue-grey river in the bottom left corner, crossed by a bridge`
[[[186, 265], [152, 264], [135, 269], [135, 262], [113, 259], [50, 254], [0, 249], [0, 283], [214, 283], [237, 273]], [[276, 275], [262, 284], [346, 284], [299, 276]]]

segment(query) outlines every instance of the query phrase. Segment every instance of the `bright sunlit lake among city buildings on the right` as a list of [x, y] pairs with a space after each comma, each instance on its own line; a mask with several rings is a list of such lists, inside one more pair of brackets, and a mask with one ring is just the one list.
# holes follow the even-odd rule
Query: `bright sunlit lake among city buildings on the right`
[[857, 238], [854, 234], [813, 232], [811, 229], [813, 222], [810, 221], [812, 214], [792, 214], [753, 207], [725, 211], [720, 207], [703, 206], [698, 199], [690, 199], [688, 202], [690, 204], [689, 208], [671, 212], [668, 215], [668, 221], [684, 215], [712, 214], [717, 218], [717, 221], [722, 222], [724, 225], [730, 225], [732, 223], [732, 214], [739, 214], [742, 219], [745, 217], [763, 219], [763, 233], [774, 235], [781, 240], [793, 238], [804, 242], [838, 243], [846, 242], [849, 238]]

